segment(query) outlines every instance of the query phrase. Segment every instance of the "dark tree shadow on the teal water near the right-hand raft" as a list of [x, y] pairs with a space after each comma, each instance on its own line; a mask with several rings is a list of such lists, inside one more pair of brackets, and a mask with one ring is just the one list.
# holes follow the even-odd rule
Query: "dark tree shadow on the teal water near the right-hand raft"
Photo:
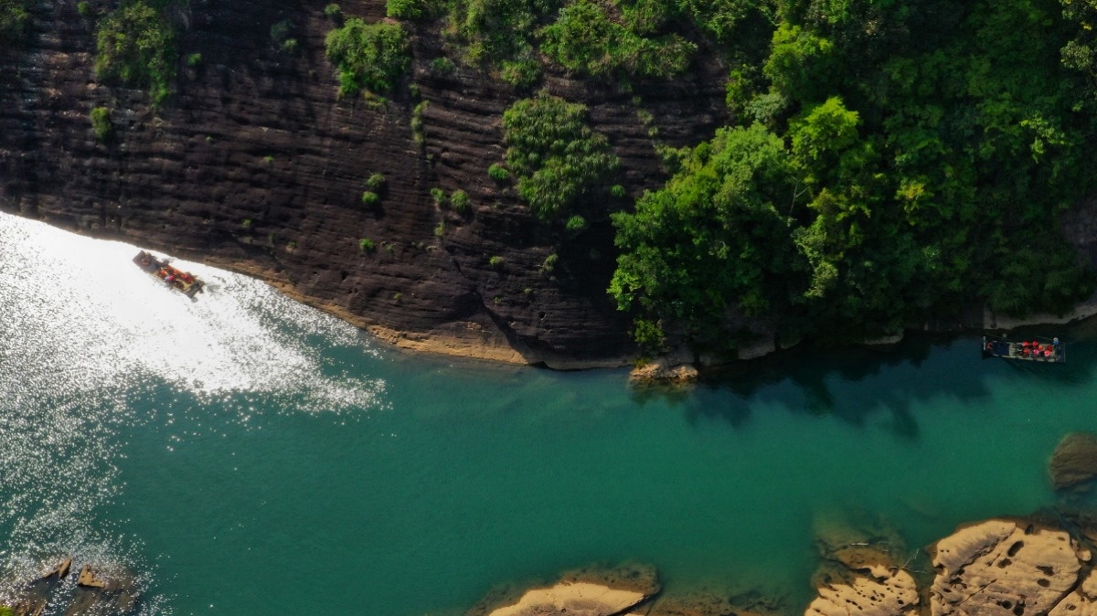
[[[1084, 323], [1085, 324], [1085, 323]], [[870, 417], [890, 413], [890, 430], [917, 438], [918, 403], [951, 398], [976, 407], [991, 399], [987, 376], [1076, 387], [1092, 378], [1097, 328], [1059, 330], [1070, 341], [1066, 364], [983, 360], [976, 334], [911, 332], [885, 346], [819, 347], [802, 344], [772, 355], [738, 362], [703, 376], [693, 388], [645, 388], [633, 393], [638, 403], [659, 398], [681, 407], [691, 422], [719, 419], [745, 427], [759, 407], [833, 417], [864, 425]], [[1018, 330], [1011, 338], [1039, 332]]]

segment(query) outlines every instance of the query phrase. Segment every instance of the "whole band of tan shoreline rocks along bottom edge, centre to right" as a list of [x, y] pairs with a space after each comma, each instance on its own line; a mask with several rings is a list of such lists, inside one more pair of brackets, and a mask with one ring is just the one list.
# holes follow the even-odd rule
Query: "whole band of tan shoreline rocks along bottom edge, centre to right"
[[[826, 571], [816, 575], [817, 594], [804, 616], [1093, 616], [1097, 575], [1088, 537], [1097, 533], [1086, 531], [1081, 520], [1071, 527], [1079, 534], [1036, 520], [987, 520], [961, 526], [927, 547], [920, 560], [903, 562], [890, 556], [887, 540], [832, 541], [823, 550]], [[925, 568], [927, 556], [931, 569]], [[791, 614], [791, 606], [776, 603], [759, 608], [765, 602], [757, 598], [743, 606], [731, 596], [668, 596], [660, 594], [654, 569], [642, 578], [648, 582], [637, 588], [619, 569], [606, 570], [601, 580], [586, 570], [581, 581], [567, 574], [524, 593], [489, 597], [466, 616]]]

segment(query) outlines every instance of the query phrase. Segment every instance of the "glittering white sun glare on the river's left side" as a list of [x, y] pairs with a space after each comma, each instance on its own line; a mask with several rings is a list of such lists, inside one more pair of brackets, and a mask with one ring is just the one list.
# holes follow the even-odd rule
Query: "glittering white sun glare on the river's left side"
[[[235, 417], [191, 422], [173, 442], [270, 409], [347, 421], [385, 408], [383, 380], [326, 354], [367, 347], [353, 327], [258, 281], [178, 262], [208, 283], [190, 301], [134, 266], [136, 250], [0, 216], [0, 601], [60, 555], [152, 582], [139, 538], [94, 515], [124, 494], [118, 435], [149, 421], [132, 402], [150, 390], [180, 391], [154, 410], [168, 423], [234, 398]], [[163, 614], [165, 598], [147, 593], [143, 613]]]

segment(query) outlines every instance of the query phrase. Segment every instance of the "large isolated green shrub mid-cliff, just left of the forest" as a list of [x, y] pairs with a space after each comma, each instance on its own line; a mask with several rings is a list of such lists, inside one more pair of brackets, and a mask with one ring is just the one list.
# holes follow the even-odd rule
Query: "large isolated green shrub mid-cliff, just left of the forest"
[[565, 212], [617, 170], [606, 136], [587, 126], [587, 107], [541, 92], [502, 114], [507, 164], [518, 194], [541, 219]]

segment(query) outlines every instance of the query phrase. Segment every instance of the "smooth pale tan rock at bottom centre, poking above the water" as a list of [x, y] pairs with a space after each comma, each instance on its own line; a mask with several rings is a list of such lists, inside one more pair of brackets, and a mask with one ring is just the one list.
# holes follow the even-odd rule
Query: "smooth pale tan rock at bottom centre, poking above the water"
[[590, 582], [561, 582], [528, 591], [514, 605], [489, 616], [611, 616], [631, 609], [647, 598], [637, 591], [611, 589]]

